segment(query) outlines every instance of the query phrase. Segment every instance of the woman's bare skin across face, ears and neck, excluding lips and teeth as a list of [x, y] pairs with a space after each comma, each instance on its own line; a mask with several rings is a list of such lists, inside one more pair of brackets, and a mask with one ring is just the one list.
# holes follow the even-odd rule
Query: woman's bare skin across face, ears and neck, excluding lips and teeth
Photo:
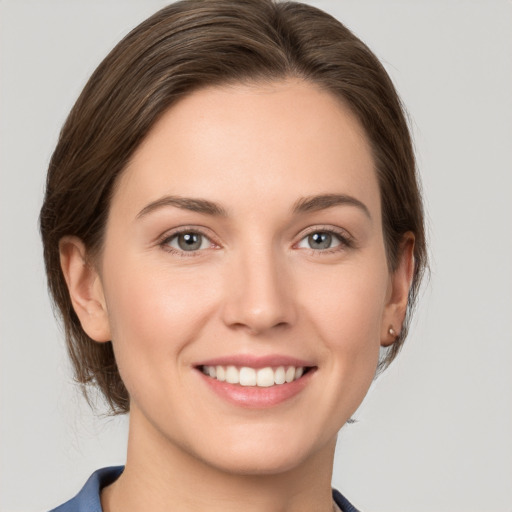
[[[294, 211], [326, 194], [354, 201]], [[158, 203], [168, 196], [223, 214]], [[201, 248], [180, 249], [179, 228], [203, 233]], [[331, 246], [311, 248], [308, 235], [326, 232]], [[400, 332], [412, 249], [407, 235], [391, 273], [369, 144], [331, 94], [290, 79], [173, 106], [117, 183], [95, 264], [80, 240], [61, 241], [82, 326], [112, 340], [130, 393], [126, 469], [104, 510], [332, 510], [336, 435], [394, 341], [390, 326]], [[194, 367], [233, 354], [315, 371], [283, 403], [241, 407]]]

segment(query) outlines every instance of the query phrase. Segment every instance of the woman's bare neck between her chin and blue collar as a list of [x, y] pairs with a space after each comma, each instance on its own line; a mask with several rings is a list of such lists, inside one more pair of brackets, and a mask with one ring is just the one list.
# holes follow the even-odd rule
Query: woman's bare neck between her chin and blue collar
[[104, 512], [332, 512], [336, 440], [292, 468], [266, 474], [219, 469], [130, 417], [123, 474], [101, 495]]

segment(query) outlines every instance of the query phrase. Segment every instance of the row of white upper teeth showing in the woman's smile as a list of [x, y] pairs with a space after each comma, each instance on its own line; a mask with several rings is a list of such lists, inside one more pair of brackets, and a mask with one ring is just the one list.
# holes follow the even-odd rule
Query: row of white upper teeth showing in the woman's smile
[[288, 366], [285, 368], [284, 366], [278, 366], [277, 368], [271, 368], [267, 366], [256, 370], [248, 366], [242, 366], [241, 368], [236, 366], [203, 366], [202, 371], [205, 375], [221, 382], [268, 388], [300, 379], [304, 374], [304, 367]]

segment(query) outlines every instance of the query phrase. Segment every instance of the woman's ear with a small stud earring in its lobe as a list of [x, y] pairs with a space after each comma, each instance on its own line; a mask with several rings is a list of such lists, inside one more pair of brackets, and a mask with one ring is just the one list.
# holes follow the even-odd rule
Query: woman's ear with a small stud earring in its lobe
[[402, 330], [414, 274], [414, 234], [407, 232], [400, 244], [398, 262], [390, 275], [387, 303], [381, 326], [381, 345], [392, 345]]

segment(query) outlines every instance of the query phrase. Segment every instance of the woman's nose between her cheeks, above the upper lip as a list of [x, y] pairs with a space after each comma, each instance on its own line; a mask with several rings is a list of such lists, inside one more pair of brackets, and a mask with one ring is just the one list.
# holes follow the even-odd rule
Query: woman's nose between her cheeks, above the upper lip
[[226, 325], [258, 335], [295, 322], [293, 282], [283, 258], [270, 248], [234, 258], [225, 274]]

